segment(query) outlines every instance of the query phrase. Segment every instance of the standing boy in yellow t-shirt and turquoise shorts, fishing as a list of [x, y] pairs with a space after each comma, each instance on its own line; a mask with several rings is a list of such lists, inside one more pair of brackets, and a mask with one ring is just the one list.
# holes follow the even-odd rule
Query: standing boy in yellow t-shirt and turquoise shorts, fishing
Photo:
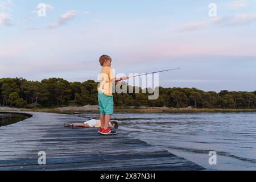
[[112, 83], [117, 84], [119, 81], [127, 80], [128, 77], [115, 78], [110, 68], [112, 65], [110, 56], [103, 55], [99, 61], [102, 69], [100, 73], [100, 87], [98, 88], [98, 104], [101, 111], [101, 127], [98, 132], [104, 135], [115, 135], [117, 132], [109, 129], [110, 117], [114, 112]]

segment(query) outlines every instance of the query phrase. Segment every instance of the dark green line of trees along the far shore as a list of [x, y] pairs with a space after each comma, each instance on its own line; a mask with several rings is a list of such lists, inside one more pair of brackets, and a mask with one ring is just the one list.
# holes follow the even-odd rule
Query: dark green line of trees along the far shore
[[[63, 78], [49, 78], [42, 81], [28, 81], [24, 78], [0, 79], [0, 106], [19, 108], [64, 107], [98, 105], [98, 82], [69, 82]], [[123, 85], [127, 86], [127, 85]], [[135, 90], [127, 86], [127, 90]], [[188, 107], [254, 109], [255, 92], [204, 92], [196, 88], [159, 87], [158, 100], [148, 100], [149, 94], [114, 94], [115, 106]]]

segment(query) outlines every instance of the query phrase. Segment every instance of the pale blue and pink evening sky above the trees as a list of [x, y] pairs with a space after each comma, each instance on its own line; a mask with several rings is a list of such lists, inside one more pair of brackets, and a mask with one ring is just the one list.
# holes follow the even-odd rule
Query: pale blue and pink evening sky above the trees
[[106, 54], [117, 76], [181, 68], [164, 88], [254, 91], [255, 30], [254, 0], [0, 0], [0, 77], [98, 81]]

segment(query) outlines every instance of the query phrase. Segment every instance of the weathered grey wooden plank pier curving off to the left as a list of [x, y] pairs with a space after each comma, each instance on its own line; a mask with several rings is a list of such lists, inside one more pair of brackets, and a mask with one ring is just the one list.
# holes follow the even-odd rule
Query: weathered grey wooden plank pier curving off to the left
[[[92, 129], [64, 128], [64, 123], [84, 122], [73, 115], [29, 113], [32, 117], [0, 127], [0, 171], [195, 171], [203, 167], [161, 147], [151, 146], [118, 130], [105, 136]], [[39, 165], [38, 152], [46, 152]]]

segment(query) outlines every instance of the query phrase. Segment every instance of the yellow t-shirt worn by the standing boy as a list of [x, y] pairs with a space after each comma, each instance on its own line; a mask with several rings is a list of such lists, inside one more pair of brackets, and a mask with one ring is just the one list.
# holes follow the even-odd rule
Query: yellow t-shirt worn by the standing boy
[[105, 96], [113, 96], [112, 94], [112, 80], [115, 75], [110, 67], [103, 67], [100, 73], [100, 88], [98, 91], [105, 94]]

